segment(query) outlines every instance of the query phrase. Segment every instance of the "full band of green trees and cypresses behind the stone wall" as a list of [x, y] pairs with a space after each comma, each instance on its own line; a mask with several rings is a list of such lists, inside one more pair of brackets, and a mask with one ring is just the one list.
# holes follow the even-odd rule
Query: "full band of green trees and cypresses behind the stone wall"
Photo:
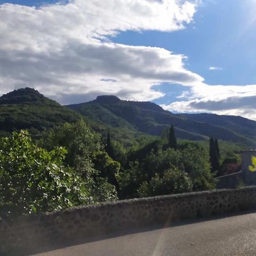
[[82, 119], [38, 140], [14, 132], [0, 139], [0, 215], [213, 189], [221, 171], [217, 139], [210, 138], [209, 148], [177, 143], [174, 126], [168, 138], [130, 148], [110, 132], [102, 138]]

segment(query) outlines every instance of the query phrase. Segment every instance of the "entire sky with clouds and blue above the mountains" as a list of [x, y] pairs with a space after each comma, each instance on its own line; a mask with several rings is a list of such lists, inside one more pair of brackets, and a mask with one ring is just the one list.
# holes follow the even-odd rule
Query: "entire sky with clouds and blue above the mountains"
[[0, 94], [256, 120], [255, 13], [256, 0], [0, 0]]

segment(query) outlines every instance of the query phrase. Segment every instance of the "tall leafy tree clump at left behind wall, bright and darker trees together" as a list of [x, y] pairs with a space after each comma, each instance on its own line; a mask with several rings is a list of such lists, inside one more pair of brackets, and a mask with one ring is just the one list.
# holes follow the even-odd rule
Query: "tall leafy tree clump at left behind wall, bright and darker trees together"
[[120, 165], [84, 121], [66, 123], [45, 135], [40, 146], [26, 131], [1, 139], [1, 216], [117, 199]]

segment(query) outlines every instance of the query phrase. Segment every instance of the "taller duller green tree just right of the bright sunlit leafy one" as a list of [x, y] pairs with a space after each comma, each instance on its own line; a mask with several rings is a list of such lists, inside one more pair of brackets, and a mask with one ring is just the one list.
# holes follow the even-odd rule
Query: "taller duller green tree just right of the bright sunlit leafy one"
[[55, 127], [44, 144], [49, 149], [54, 146], [67, 148], [65, 163], [88, 184], [94, 203], [117, 199], [115, 175], [119, 171], [119, 163], [106, 154], [100, 135], [90, 129], [84, 120]]

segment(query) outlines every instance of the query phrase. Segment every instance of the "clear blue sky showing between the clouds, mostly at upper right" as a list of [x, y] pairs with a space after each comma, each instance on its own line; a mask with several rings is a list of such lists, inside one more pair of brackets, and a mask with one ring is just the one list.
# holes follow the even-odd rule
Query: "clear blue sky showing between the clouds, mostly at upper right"
[[[256, 21], [249, 26], [248, 16], [255, 15], [256, 1], [205, 1], [199, 6], [194, 22], [186, 29], [169, 32], [122, 32], [112, 40], [136, 46], [163, 47], [188, 56], [186, 67], [203, 76], [208, 84], [256, 84]], [[210, 70], [210, 67], [216, 67]], [[183, 86], [160, 86], [166, 97], [155, 100], [163, 104], [174, 100]]]

